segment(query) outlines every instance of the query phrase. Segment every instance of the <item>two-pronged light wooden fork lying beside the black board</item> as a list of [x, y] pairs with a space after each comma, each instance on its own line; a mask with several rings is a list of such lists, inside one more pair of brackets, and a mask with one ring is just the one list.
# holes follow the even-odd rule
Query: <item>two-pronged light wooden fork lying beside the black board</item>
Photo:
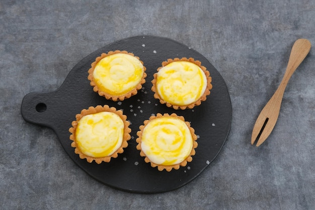
[[283, 79], [278, 89], [268, 101], [266, 106], [263, 108], [256, 120], [252, 132], [252, 145], [258, 138], [256, 147], [259, 147], [261, 144], [263, 144], [263, 142], [265, 142], [265, 140], [273, 130], [279, 116], [281, 101], [285, 87], [288, 84], [295, 69], [308, 54], [310, 46], [311, 44], [307, 39], [298, 39], [294, 42]]

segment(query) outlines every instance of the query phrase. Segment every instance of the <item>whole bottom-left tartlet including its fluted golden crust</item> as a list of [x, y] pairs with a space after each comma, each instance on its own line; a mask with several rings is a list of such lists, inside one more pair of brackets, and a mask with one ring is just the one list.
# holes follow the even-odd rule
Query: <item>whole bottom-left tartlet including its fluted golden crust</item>
[[69, 128], [69, 138], [73, 141], [74, 153], [81, 159], [87, 159], [89, 163], [94, 160], [98, 164], [110, 162], [128, 146], [130, 123], [121, 110], [108, 105], [91, 106], [76, 114], [75, 118]]

